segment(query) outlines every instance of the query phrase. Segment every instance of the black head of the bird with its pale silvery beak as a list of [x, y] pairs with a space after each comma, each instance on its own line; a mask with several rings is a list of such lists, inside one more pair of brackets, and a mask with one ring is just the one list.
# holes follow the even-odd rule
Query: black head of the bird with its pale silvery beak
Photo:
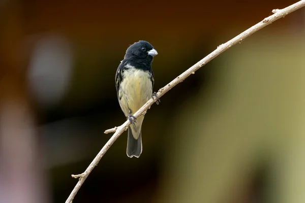
[[153, 57], [157, 54], [158, 52], [151, 44], [146, 41], [139, 41], [127, 49], [125, 58], [148, 59], [152, 61]]

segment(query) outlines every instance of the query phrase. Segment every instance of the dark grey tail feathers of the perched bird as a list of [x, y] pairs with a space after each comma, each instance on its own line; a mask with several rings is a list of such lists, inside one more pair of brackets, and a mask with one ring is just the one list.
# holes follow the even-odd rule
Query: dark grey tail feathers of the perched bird
[[131, 128], [128, 127], [128, 141], [127, 141], [127, 156], [132, 158], [133, 156], [139, 158], [142, 153], [142, 139], [141, 132], [138, 140], [132, 136]]

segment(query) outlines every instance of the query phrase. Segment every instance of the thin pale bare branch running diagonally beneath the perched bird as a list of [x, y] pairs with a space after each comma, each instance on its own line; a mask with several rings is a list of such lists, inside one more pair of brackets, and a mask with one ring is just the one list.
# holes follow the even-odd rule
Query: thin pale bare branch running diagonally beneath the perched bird
[[[267, 26], [268, 24], [271, 24], [272, 22], [285, 17], [287, 14], [292, 13], [302, 7], [305, 6], [305, 0], [299, 1], [289, 7], [286, 7], [284, 9], [274, 9], [272, 10], [273, 15], [265, 18], [264, 20], [260, 21], [259, 23], [253, 25], [246, 31], [241, 32], [238, 36], [233, 38], [232, 40], [226, 42], [225, 44], [221, 44], [217, 47], [217, 49], [213, 52], [211, 52], [209, 55], [198, 61], [195, 65], [190, 67], [187, 71], [176, 77], [173, 81], [168, 83], [166, 86], [162, 87], [158, 91], [158, 97], [160, 98], [163, 96], [166, 92], [168, 92], [171, 88], [176, 86], [178, 83], [183, 82], [187, 77], [189, 77], [191, 74], [195, 74], [195, 71], [200, 69], [203, 65], [205, 65], [207, 62], [211, 61], [215, 57], [217, 57], [222, 52], [226, 51], [233, 45], [236, 45], [238, 43], [241, 43], [243, 40], [245, 40], [247, 37], [251, 36], [256, 31], [260, 30], [261, 28]], [[138, 118], [140, 115], [144, 115], [147, 111], [147, 109], [155, 103], [156, 100], [149, 99], [146, 104], [144, 104], [135, 114], [134, 116]], [[115, 142], [115, 140], [120, 136], [121, 133], [123, 133], [125, 130], [127, 130], [128, 126], [130, 125], [130, 121], [127, 120], [125, 123], [118, 127], [114, 127], [111, 129], [108, 129], [105, 131], [105, 133], [109, 132], [115, 132], [113, 136], [109, 139], [109, 141], [106, 143], [106, 145], [102, 148], [102, 150], [98, 153], [98, 155], [94, 158], [94, 160], [90, 163], [90, 165], [87, 167], [86, 171], [80, 175], [72, 175], [74, 178], [79, 178], [78, 183], [74, 187], [73, 191], [71, 192], [70, 196], [66, 200], [66, 203], [72, 202], [73, 198], [75, 197], [77, 191], [81, 187], [81, 185], [84, 183], [90, 172], [92, 172], [93, 168], [99, 163], [101, 158], [104, 156], [104, 154], [107, 152], [107, 150], [111, 147], [111, 145]]]

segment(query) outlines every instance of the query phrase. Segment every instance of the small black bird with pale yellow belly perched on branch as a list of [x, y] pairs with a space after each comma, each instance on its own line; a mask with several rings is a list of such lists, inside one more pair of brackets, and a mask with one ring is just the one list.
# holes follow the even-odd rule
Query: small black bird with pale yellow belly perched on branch
[[158, 52], [146, 41], [131, 45], [124, 59], [117, 67], [115, 87], [119, 106], [126, 118], [132, 123], [128, 127], [127, 156], [139, 158], [142, 153], [141, 126], [144, 115], [136, 118], [133, 114], [154, 96], [159, 104], [160, 99], [153, 93], [154, 73], [151, 62]]

